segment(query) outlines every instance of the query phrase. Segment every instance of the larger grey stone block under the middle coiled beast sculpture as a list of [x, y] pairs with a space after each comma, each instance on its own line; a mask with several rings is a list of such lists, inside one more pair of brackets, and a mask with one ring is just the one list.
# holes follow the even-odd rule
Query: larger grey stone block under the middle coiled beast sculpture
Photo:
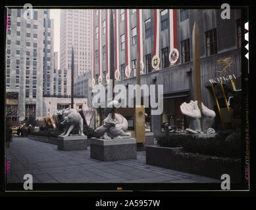
[[91, 158], [100, 161], [137, 159], [136, 138], [111, 140], [91, 138]]

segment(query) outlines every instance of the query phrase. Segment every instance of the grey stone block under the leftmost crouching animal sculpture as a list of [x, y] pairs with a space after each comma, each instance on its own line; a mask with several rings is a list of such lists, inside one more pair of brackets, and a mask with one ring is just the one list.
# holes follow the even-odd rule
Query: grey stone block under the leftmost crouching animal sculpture
[[87, 150], [87, 136], [58, 136], [58, 150]]

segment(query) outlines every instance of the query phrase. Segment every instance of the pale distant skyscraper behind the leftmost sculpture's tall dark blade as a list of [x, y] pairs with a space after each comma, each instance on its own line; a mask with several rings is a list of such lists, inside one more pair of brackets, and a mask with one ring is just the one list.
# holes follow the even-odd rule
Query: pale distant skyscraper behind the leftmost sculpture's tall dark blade
[[72, 47], [74, 47], [74, 77], [90, 71], [91, 10], [61, 10], [60, 37], [60, 69], [71, 71]]

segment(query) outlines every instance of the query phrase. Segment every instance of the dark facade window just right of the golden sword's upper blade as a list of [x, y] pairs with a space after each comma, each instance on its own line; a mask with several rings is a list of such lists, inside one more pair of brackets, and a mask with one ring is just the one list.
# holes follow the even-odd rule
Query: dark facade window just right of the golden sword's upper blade
[[216, 28], [205, 32], [206, 56], [217, 54], [217, 30]]

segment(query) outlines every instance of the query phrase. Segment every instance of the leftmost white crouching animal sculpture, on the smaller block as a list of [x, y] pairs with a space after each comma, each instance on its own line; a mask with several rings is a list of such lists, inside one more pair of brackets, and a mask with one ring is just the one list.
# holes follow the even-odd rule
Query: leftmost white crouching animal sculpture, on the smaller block
[[75, 109], [70, 109], [68, 111], [68, 116], [64, 117], [64, 121], [61, 122], [62, 125], [66, 126], [64, 133], [61, 136], [68, 137], [70, 132], [74, 129], [75, 126], [78, 126], [79, 132], [78, 135], [84, 136], [83, 126], [84, 121], [80, 114]]

